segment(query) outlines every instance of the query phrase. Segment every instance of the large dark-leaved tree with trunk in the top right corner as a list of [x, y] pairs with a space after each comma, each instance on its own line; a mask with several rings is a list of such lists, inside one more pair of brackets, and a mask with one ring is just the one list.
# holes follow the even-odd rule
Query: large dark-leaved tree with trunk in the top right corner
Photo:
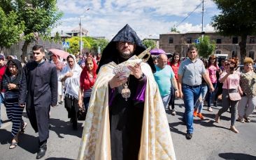
[[213, 0], [220, 15], [213, 17], [212, 25], [220, 34], [225, 36], [241, 36], [239, 42], [241, 59], [246, 56], [246, 39], [256, 33], [256, 1], [242, 0]]

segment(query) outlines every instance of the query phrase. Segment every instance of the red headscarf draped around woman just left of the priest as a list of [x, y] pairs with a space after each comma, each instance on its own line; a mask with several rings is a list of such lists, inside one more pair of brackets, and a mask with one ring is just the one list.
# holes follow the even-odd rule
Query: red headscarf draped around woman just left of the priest
[[[86, 65], [87, 61], [92, 61], [92, 63], [93, 63], [93, 79], [92, 80], [90, 79], [89, 70]], [[94, 85], [96, 77], [97, 77], [97, 74], [96, 74], [97, 67], [98, 67], [98, 65], [97, 65], [96, 61], [94, 60], [94, 58], [92, 58], [92, 56], [89, 56], [85, 59], [85, 67], [83, 68], [81, 75], [80, 75], [80, 85], [81, 85], [81, 88], [84, 88], [84, 90], [88, 90], [88, 89], [92, 88], [92, 86]]]

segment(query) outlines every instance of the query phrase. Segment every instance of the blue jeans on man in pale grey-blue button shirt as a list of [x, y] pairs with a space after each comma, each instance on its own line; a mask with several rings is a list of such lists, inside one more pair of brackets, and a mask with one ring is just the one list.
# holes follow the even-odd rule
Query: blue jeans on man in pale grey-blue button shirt
[[187, 133], [192, 134], [193, 128], [193, 111], [194, 104], [201, 95], [201, 85], [200, 86], [188, 86], [186, 84], [182, 85], [183, 90], [183, 101], [185, 105], [185, 123], [187, 125]]

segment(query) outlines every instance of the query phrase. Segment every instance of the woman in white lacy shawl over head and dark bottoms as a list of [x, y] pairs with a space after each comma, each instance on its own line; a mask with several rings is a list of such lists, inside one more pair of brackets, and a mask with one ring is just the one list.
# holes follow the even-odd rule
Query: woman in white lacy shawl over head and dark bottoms
[[68, 111], [68, 118], [71, 118], [73, 129], [78, 129], [78, 92], [80, 86], [81, 67], [76, 63], [76, 57], [70, 54], [67, 58], [67, 63], [59, 77], [60, 81], [64, 82], [65, 99], [64, 106]]

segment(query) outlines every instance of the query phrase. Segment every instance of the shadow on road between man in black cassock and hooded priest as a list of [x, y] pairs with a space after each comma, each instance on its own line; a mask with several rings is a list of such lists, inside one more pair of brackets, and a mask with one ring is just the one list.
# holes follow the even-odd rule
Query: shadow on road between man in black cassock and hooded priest
[[72, 129], [71, 122], [66, 122], [64, 120], [59, 120], [55, 118], [50, 118], [50, 125], [50, 130], [55, 131], [59, 138], [64, 138], [64, 136], [62, 136], [61, 134], [78, 136], [79, 138], [81, 138], [83, 134], [83, 124], [79, 122], [78, 130]]

